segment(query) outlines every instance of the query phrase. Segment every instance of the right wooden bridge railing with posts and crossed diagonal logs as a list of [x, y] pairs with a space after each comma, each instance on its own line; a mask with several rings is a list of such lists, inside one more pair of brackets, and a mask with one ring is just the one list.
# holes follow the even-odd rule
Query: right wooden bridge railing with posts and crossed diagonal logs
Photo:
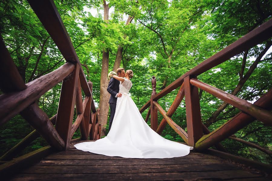
[[[156, 78], [152, 77], [152, 95], [150, 100], [139, 110], [143, 113], [149, 106], [145, 121], [147, 122], [151, 115], [151, 128], [158, 134], [161, 134], [165, 125], [168, 123], [172, 129], [179, 134], [186, 144], [193, 146], [195, 151], [203, 151], [213, 145], [221, 151], [224, 148], [220, 141], [225, 138], [233, 138], [232, 134], [250, 124], [255, 119], [265, 123], [265, 125], [272, 126], [272, 89], [258, 99], [254, 104], [240, 99], [234, 95], [228, 94], [211, 85], [205, 84], [197, 80], [197, 76], [203, 72], [225, 62], [231, 57], [240, 54], [247, 49], [262, 43], [272, 37], [272, 19], [262, 24], [260, 27], [247, 33], [244, 37], [227, 46], [214, 56], [206, 59], [204, 62], [186, 72], [180, 78], [172, 82], [169, 86], [156, 94]], [[162, 109], [157, 100], [170, 93], [172, 90], [179, 88], [178, 94], [170, 106], [167, 113]], [[220, 98], [221, 100], [233, 105], [241, 110], [231, 120], [221, 125], [218, 129], [210, 132], [208, 128], [202, 123], [200, 114], [200, 103], [198, 96], [198, 88]], [[187, 131], [186, 133], [179, 125], [172, 119], [172, 115], [180, 105], [185, 96]], [[158, 112], [162, 114], [163, 119], [158, 126]], [[251, 145], [252, 146], [252, 145]], [[254, 146], [257, 148], [258, 146]], [[271, 154], [271, 151], [265, 151]]]

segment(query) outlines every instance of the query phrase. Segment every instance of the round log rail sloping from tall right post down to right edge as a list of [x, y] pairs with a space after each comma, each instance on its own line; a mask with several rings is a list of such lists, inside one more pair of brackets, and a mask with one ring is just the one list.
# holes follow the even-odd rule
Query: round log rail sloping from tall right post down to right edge
[[216, 87], [213, 87], [209, 84], [198, 81], [196, 79], [191, 79], [190, 83], [192, 85], [214, 95], [215, 97], [218, 97], [221, 100], [224, 100], [225, 102], [233, 105], [234, 107], [238, 108], [239, 110], [250, 114], [251, 116], [259, 119], [260, 121], [262, 121], [264, 123], [271, 123], [272, 122], [272, 113], [270, 111], [267, 111], [263, 108], [255, 106], [254, 104], [251, 104], [244, 99], [240, 99], [232, 94], [224, 92], [223, 90], [220, 90]]

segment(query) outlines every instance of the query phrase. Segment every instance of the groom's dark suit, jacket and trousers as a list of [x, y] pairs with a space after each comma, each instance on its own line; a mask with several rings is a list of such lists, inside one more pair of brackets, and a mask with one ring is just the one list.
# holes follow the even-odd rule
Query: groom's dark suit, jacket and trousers
[[109, 124], [109, 131], [113, 121], [113, 117], [115, 114], [116, 109], [116, 101], [117, 101], [117, 94], [119, 92], [119, 84], [120, 81], [116, 80], [115, 78], [110, 78], [110, 82], [107, 88], [107, 91], [110, 93], [110, 124]]

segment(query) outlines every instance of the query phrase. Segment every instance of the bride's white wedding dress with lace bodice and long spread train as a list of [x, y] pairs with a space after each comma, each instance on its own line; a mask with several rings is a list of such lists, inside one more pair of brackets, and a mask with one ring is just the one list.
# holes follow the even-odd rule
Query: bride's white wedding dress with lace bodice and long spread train
[[124, 158], [172, 158], [188, 155], [193, 147], [170, 141], [153, 131], [145, 122], [128, 93], [132, 83], [125, 79], [119, 85], [110, 132], [96, 141], [75, 144], [79, 150]]

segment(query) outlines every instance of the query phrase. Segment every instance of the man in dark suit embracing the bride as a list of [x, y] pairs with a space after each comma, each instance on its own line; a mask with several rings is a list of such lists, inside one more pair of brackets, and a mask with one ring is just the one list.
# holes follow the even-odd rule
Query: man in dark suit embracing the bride
[[[116, 73], [118, 74], [118, 77], [125, 77], [125, 69], [124, 68], [118, 68]], [[116, 80], [115, 78], [110, 78], [110, 82], [107, 88], [107, 91], [110, 93], [110, 124], [109, 124], [109, 131], [110, 127], [113, 121], [113, 117], [115, 114], [115, 109], [116, 109], [116, 101], [117, 97], [122, 97], [121, 93], [119, 92], [119, 84], [120, 81]]]

